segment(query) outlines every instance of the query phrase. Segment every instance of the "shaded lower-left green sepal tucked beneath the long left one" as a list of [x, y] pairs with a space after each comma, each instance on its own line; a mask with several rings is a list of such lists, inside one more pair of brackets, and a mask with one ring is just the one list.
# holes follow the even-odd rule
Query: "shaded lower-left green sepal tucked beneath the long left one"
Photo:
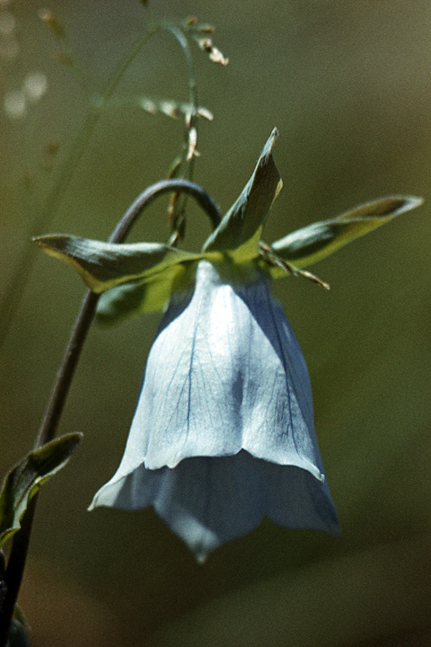
[[132, 315], [162, 312], [175, 292], [193, 283], [196, 264], [196, 261], [186, 261], [167, 268], [145, 283], [125, 283], [104, 292], [97, 305], [98, 322], [119, 323]]

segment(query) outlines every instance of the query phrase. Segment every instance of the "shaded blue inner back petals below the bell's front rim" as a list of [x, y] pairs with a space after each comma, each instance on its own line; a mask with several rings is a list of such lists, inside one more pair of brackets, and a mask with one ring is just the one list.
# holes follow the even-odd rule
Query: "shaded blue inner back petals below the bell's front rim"
[[136, 510], [150, 504], [199, 561], [250, 532], [264, 515], [284, 527], [339, 533], [326, 484], [302, 469], [268, 463], [246, 451], [187, 458], [174, 469], [140, 465], [120, 481], [104, 485], [91, 507]]

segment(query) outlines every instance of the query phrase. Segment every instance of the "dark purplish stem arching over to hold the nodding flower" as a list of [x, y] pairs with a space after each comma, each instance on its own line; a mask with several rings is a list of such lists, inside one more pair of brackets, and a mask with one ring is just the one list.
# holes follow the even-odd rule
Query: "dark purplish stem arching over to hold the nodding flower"
[[[183, 191], [189, 193], [198, 200], [199, 205], [207, 212], [213, 227], [221, 220], [220, 210], [216, 202], [198, 184], [188, 180], [162, 180], [148, 187], [128, 208], [119, 221], [118, 226], [110, 235], [110, 243], [123, 243], [131, 227], [135, 224], [136, 218], [141, 214], [157, 196], [168, 191]], [[52, 389], [48, 406], [40, 425], [39, 434], [35, 448], [40, 448], [49, 440], [54, 439], [61, 414], [66, 404], [75, 368], [84, 347], [84, 341], [92, 324], [100, 295], [88, 291], [84, 297], [83, 304], [77, 316], [66, 353], [57, 373], [57, 379]], [[37, 495], [22, 518], [21, 529], [13, 536], [13, 545], [4, 576], [6, 594], [3, 607], [0, 609], [0, 647], [6, 647], [9, 626], [13, 616], [13, 608], [21, 587], [22, 575], [25, 568], [28, 548], [31, 537], [31, 527], [36, 508]]]

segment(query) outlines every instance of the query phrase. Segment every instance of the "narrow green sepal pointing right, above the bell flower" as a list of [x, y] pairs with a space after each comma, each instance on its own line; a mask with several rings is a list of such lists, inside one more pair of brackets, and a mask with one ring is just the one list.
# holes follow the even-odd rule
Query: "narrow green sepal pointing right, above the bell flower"
[[[271, 250], [279, 258], [297, 268], [312, 265], [351, 243], [359, 236], [373, 231], [400, 213], [421, 205], [423, 200], [412, 196], [389, 196], [368, 202], [330, 220], [322, 220], [298, 229], [277, 240]], [[271, 275], [286, 276], [278, 267], [270, 269]]]

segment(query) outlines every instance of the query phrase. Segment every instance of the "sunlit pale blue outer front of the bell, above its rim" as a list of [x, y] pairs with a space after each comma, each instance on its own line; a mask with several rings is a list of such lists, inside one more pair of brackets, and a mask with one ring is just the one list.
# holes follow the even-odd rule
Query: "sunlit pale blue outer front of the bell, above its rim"
[[193, 295], [163, 317], [118, 476], [243, 448], [323, 481], [312, 417], [303, 354], [267, 281], [230, 284], [201, 261]]

